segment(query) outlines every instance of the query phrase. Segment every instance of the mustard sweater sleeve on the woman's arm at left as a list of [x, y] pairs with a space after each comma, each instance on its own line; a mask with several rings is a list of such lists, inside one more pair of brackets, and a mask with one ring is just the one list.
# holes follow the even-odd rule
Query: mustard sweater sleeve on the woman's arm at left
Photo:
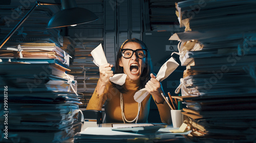
[[105, 90], [101, 95], [99, 95], [97, 93], [96, 89], [94, 90], [94, 93], [87, 105], [87, 108], [86, 108], [87, 110], [101, 110], [102, 109], [103, 104], [105, 103], [106, 99], [108, 98], [108, 90], [109, 90], [110, 84], [111, 83], [106, 85]]

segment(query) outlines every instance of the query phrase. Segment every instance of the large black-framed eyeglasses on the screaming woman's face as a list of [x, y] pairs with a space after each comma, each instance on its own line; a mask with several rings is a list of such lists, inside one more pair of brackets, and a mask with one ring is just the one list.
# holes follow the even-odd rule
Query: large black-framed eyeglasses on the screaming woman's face
[[125, 59], [129, 59], [133, 56], [133, 53], [135, 52], [137, 58], [143, 59], [147, 55], [147, 49], [137, 49], [137, 50], [132, 50], [132, 49], [121, 49], [122, 56]]

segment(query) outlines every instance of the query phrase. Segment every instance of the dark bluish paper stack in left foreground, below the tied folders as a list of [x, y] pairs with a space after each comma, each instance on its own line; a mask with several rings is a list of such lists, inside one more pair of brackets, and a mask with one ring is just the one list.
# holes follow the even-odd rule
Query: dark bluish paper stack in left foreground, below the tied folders
[[0, 142], [62, 142], [73, 137], [82, 95], [76, 93], [74, 77], [65, 73], [69, 69], [23, 62], [0, 62], [0, 69]]

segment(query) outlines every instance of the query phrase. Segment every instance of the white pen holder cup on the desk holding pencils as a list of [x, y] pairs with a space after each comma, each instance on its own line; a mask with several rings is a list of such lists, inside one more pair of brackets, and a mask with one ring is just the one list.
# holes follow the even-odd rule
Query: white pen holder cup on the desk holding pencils
[[183, 123], [183, 114], [181, 111], [182, 110], [170, 110], [174, 128], [179, 128]]

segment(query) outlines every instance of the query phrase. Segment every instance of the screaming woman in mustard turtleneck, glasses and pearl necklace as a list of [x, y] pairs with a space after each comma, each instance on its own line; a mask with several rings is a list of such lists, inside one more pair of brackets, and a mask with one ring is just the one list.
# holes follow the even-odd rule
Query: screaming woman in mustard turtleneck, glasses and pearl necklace
[[[170, 124], [170, 109], [163, 99], [162, 85], [152, 73], [150, 54], [145, 44], [138, 39], [126, 40], [120, 47], [115, 73], [127, 75], [125, 83], [110, 82], [113, 65], [99, 67], [100, 78], [88, 103], [87, 109], [101, 110], [105, 104], [107, 123], [147, 123], [151, 95], [157, 104], [161, 121]], [[134, 100], [134, 94], [146, 88], [150, 93], [141, 103]]]

